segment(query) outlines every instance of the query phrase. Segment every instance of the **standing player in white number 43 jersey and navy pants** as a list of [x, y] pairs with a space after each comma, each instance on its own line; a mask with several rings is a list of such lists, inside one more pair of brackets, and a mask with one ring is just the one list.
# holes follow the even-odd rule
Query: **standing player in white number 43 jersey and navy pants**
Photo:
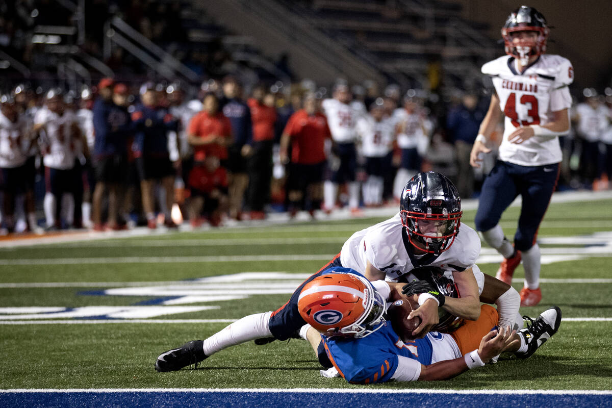
[[[483, 239], [504, 256], [496, 275], [499, 280], [510, 283], [522, 258], [522, 306], [537, 305], [542, 299], [535, 238], [559, 176], [558, 136], [570, 128], [568, 86], [573, 67], [564, 57], [544, 54], [548, 31], [546, 19], [533, 7], [521, 6], [506, 20], [501, 32], [508, 55], [482, 66], [495, 93], [470, 154], [470, 164], [479, 167], [481, 155], [491, 151], [489, 138], [503, 113], [498, 161], [482, 185], [475, 223]], [[512, 245], [499, 219], [518, 195], [523, 206]]]

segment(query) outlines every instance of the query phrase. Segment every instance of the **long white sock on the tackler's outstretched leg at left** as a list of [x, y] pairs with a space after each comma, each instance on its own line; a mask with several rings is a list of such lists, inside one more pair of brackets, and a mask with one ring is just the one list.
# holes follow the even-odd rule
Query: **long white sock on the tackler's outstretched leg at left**
[[250, 314], [233, 322], [204, 340], [204, 354], [212, 355], [230, 346], [263, 337], [272, 337], [269, 321], [272, 312]]

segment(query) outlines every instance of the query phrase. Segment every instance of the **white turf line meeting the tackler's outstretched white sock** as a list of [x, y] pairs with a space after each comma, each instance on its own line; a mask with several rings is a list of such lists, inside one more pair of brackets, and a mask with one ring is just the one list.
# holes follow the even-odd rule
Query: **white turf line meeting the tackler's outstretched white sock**
[[[28, 324], [230, 324], [238, 319], [75, 319], [75, 320], [0, 320], [0, 325]], [[563, 322], [612, 322], [612, 317], [564, 317]]]

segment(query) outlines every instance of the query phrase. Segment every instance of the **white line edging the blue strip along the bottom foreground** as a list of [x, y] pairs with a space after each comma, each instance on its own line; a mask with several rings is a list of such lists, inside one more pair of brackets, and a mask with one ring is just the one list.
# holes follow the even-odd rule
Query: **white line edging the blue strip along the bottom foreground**
[[512, 394], [612, 395], [610, 390], [440, 390], [438, 388], [9, 388], [0, 393], [353, 393], [353, 394]]

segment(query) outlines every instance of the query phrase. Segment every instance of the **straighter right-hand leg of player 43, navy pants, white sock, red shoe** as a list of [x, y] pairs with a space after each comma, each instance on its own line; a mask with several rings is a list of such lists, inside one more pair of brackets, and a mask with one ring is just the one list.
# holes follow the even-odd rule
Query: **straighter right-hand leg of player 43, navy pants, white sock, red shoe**
[[540, 291], [540, 247], [535, 242], [550, 198], [559, 176], [559, 165], [539, 166], [530, 169], [523, 178], [521, 196], [523, 205], [514, 237], [517, 250], [523, 255], [525, 270], [524, 287], [521, 290], [521, 306], [535, 306], [542, 299]]

